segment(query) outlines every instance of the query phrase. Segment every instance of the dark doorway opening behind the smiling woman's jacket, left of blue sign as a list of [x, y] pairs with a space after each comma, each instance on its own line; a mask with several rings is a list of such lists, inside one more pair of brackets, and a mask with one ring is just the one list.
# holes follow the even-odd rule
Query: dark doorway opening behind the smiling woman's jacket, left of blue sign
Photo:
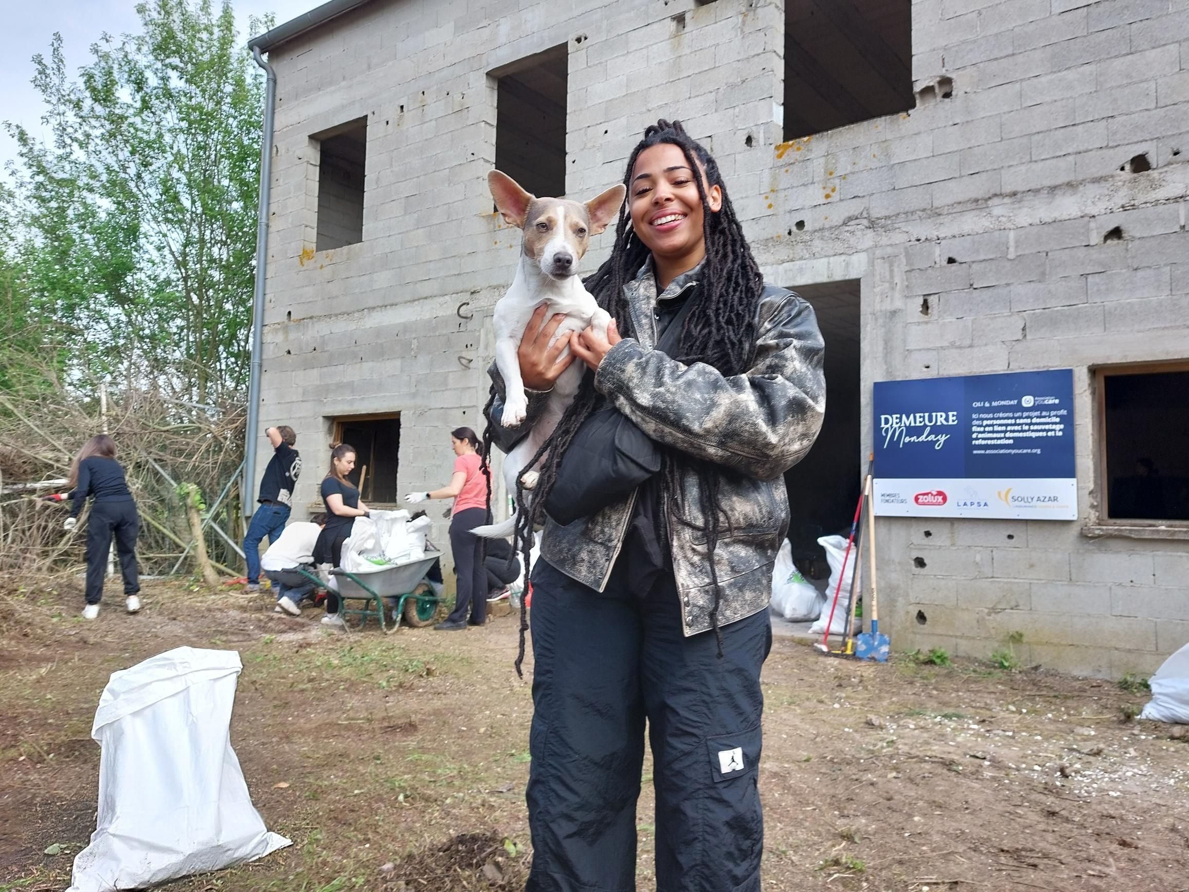
[[789, 287], [813, 306], [825, 340], [830, 398], [822, 433], [809, 454], [785, 475], [793, 561], [807, 579], [823, 588], [830, 570], [817, 540], [850, 532], [866, 469], [861, 442], [858, 279]]

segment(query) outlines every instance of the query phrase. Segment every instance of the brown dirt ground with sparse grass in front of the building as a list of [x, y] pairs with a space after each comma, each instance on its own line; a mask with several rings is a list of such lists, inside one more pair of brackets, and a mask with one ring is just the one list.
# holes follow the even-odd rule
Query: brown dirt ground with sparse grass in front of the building
[[[269, 829], [294, 844], [170, 888], [523, 887], [531, 701], [515, 617], [382, 636], [176, 583], [149, 584], [137, 616], [113, 601], [84, 623], [76, 588], [0, 595], [0, 892], [69, 885], [94, 828], [99, 695], [112, 671], [180, 645], [239, 651], [232, 742]], [[763, 683], [768, 892], [1189, 888], [1189, 739], [1121, 721], [1143, 691], [860, 664], [781, 639]], [[646, 792], [641, 890], [652, 821]]]

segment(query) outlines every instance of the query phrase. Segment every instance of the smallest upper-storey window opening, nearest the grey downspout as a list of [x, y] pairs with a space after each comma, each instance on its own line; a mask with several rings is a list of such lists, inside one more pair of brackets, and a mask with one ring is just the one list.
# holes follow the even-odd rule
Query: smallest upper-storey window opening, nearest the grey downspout
[[364, 240], [364, 170], [367, 158], [367, 119], [359, 118], [312, 140], [319, 144], [319, 251]]

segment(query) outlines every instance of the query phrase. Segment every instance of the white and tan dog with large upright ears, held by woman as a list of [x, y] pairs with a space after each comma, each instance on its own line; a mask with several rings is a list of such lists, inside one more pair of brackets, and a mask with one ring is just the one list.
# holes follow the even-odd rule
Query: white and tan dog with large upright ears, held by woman
[[[533, 312], [542, 303], [548, 303], [546, 319], [558, 313], [566, 315], [551, 345], [559, 338], [568, 338], [571, 332], [580, 332], [591, 325], [606, 333], [611, 318], [583, 287], [578, 263], [586, 253], [591, 237], [603, 232], [618, 214], [627, 189], [622, 184], [614, 186], [587, 202], [537, 199], [498, 170], [487, 174], [487, 186], [504, 220], [524, 231], [516, 278], [496, 303], [492, 319], [496, 328], [496, 368], [499, 369], [505, 387], [504, 412], [499, 421], [504, 427], [514, 428], [528, 416], [528, 396], [521, 378], [518, 350]], [[541, 448], [541, 444], [553, 433], [566, 408], [573, 402], [585, 371], [583, 363], [570, 364], [549, 391], [541, 417], [533, 425], [528, 436], [504, 459], [504, 483], [509, 494], [516, 491], [516, 475]], [[524, 489], [533, 489], [537, 479], [536, 470], [529, 470], [522, 479]], [[477, 527], [472, 532], [493, 539], [510, 535], [515, 526], [516, 521], [511, 517], [503, 523]]]

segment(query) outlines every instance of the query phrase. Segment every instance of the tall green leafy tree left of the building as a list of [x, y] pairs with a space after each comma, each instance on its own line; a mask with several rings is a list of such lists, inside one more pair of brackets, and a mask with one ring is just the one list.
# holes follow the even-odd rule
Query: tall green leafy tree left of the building
[[105, 34], [77, 80], [58, 34], [48, 57], [33, 58], [51, 139], [6, 125], [19, 163], [7, 202], [15, 246], [2, 256], [69, 379], [238, 401], [262, 73], [229, 2], [215, 12], [210, 0], [152, 0], [137, 12], [141, 33]]

